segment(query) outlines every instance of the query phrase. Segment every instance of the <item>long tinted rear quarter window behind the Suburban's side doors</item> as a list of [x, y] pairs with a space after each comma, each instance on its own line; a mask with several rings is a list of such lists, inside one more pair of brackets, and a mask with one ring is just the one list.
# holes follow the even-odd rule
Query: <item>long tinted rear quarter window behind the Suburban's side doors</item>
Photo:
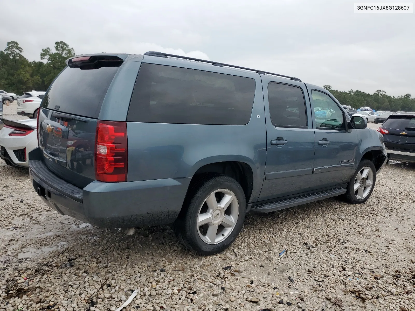
[[143, 63], [127, 121], [244, 125], [254, 95], [251, 78]]

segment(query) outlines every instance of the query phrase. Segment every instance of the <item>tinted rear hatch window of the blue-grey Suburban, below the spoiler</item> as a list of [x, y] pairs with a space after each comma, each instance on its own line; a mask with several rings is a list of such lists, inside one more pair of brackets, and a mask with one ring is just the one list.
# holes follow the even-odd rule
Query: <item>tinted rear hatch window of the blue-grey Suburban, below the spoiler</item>
[[97, 119], [120, 64], [99, 61], [88, 67], [67, 66], [50, 86], [41, 106]]

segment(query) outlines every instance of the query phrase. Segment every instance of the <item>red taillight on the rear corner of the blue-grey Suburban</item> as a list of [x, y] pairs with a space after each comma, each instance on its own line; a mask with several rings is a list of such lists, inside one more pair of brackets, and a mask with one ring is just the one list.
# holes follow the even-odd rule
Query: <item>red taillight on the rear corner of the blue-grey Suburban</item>
[[127, 123], [98, 121], [95, 138], [95, 179], [127, 181]]

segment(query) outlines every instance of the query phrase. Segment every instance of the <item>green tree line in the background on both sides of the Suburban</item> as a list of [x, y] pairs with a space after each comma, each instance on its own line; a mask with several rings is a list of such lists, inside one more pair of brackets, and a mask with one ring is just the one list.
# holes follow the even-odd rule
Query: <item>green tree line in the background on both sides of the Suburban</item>
[[[55, 42], [54, 51], [42, 49], [40, 59], [43, 61], [28, 61], [22, 52], [16, 41], [7, 42], [4, 51], [0, 51], [0, 89], [17, 95], [31, 90], [46, 91], [56, 75], [65, 68], [66, 59], [75, 56], [73, 48], [63, 41]], [[393, 112], [415, 111], [415, 98], [411, 98], [410, 94], [395, 97], [386, 95], [382, 90], [369, 94], [359, 90], [337, 91], [330, 85], [323, 87], [341, 104], [356, 109], [368, 106]]]

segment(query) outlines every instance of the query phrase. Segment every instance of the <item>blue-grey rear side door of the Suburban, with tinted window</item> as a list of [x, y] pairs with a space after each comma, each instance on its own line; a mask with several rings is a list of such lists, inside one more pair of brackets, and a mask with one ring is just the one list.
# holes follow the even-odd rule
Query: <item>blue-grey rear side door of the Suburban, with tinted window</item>
[[304, 83], [261, 75], [266, 114], [266, 166], [259, 200], [312, 188], [315, 138]]

